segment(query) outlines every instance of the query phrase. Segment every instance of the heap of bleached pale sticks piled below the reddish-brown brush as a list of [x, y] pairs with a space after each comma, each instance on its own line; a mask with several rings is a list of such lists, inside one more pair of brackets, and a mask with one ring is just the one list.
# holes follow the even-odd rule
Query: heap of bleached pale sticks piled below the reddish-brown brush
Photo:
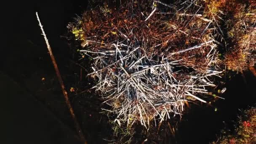
[[[169, 113], [180, 115], [189, 97], [206, 103], [196, 95], [208, 93], [208, 86], [216, 86], [209, 77], [222, 72], [207, 69], [203, 75], [195, 72], [184, 74], [175, 69], [182, 59], [171, 61], [164, 56], [152, 56], [140, 46], [113, 45], [115, 49], [112, 50], [80, 51], [92, 54], [93, 72], [88, 75], [96, 78], [93, 88], [107, 99], [104, 103], [113, 107], [110, 112], [117, 114], [118, 123], [133, 124], [139, 120], [141, 125], [147, 127], [153, 118], [164, 120], [170, 118]], [[186, 51], [189, 50], [192, 48]], [[209, 65], [214, 62], [215, 56], [216, 49], [213, 47], [205, 58], [209, 59]]]

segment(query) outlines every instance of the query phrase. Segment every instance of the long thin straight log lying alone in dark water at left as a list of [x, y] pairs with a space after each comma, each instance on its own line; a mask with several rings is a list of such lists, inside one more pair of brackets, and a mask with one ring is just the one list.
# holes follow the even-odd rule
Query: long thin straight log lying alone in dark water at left
[[44, 39], [45, 39], [45, 43], [46, 43], [47, 48], [48, 48], [48, 51], [49, 51], [49, 53], [50, 53], [51, 61], [53, 62], [53, 66], [54, 66], [54, 69], [55, 69], [55, 71], [56, 71], [56, 75], [57, 75], [58, 80], [59, 80], [59, 83], [60, 83], [60, 85], [61, 85], [61, 90], [62, 90], [62, 93], [63, 93], [63, 95], [64, 95], [64, 98], [65, 98], [67, 107], [69, 108], [69, 112], [70, 112], [70, 114], [71, 114], [71, 116], [72, 116], [72, 118], [73, 118], [73, 120], [74, 120], [75, 128], [76, 128], [76, 130], [77, 130], [78, 135], [80, 136], [81, 141], [83, 141], [85, 144], [87, 144], [87, 141], [85, 140], [85, 137], [84, 137], [84, 135], [83, 135], [83, 131], [81, 130], [80, 125], [79, 125], [79, 123], [77, 122], [77, 119], [76, 119], [76, 117], [75, 117], [75, 113], [74, 113], [74, 110], [73, 110], [73, 108], [72, 108], [72, 106], [71, 106], [71, 103], [70, 103], [70, 101], [69, 101], [69, 97], [68, 97], [68, 95], [67, 95], [67, 91], [65, 90], [65, 86], [64, 86], [63, 80], [62, 80], [62, 78], [61, 78], [61, 74], [60, 74], [60, 72], [59, 72], [58, 65], [57, 65], [57, 63], [56, 63], [56, 61], [55, 61], [55, 58], [54, 58], [54, 56], [53, 56], [53, 53], [52, 53], [52, 51], [51, 51], [51, 46], [50, 46], [50, 44], [49, 44], [49, 42], [48, 42], [48, 39], [47, 39], [47, 37], [46, 37], [46, 35], [45, 35], [45, 32], [44, 32], [44, 30], [43, 30], [43, 26], [42, 26], [42, 24], [41, 24], [41, 22], [40, 22], [40, 19], [39, 19], [39, 16], [38, 16], [37, 12], [36, 12], [36, 16], [37, 16], [37, 21], [38, 21], [38, 23], [39, 23], [39, 26], [40, 26], [40, 28], [41, 28], [41, 30], [42, 30], [42, 32], [43, 32], [43, 37], [44, 37]]

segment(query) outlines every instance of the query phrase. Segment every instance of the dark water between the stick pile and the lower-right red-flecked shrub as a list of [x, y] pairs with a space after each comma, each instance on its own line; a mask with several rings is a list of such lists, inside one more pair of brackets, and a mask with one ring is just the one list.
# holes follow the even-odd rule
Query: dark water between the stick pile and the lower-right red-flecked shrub
[[[182, 143], [208, 144], [208, 141], [216, 140], [216, 134], [220, 134], [224, 128], [231, 130], [229, 134], [232, 134], [233, 121], [241, 113], [239, 109], [256, 104], [255, 82], [256, 78], [250, 72], [245, 73], [245, 78], [237, 75], [225, 85], [225, 100], [216, 101], [212, 107], [195, 106], [181, 123], [179, 138]], [[218, 109], [216, 112], [215, 107]]]

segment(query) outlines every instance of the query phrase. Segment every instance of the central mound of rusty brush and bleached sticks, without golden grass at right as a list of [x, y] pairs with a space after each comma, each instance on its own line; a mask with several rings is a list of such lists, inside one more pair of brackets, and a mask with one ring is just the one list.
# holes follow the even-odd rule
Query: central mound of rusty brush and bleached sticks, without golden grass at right
[[[118, 10], [103, 4], [69, 25], [82, 41], [80, 52], [93, 59], [93, 88], [119, 125], [148, 127], [152, 120], [181, 115], [189, 101], [213, 97], [213, 77], [223, 72], [219, 51], [226, 47], [223, 11], [208, 8], [213, 4], [127, 0]], [[255, 29], [248, 37], [255, 37]]]

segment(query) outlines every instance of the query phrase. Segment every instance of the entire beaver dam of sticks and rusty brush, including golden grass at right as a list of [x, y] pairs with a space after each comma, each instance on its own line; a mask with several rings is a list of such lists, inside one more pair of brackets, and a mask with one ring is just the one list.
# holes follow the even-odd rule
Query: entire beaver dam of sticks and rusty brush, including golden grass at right
[[[227, 77], [256, 76], [255, 8], [254, 0], [89, 0], [67, 38], [79, 55], [80, 87], [92, 83], [86, 99], [99, 98], [111, 123], [104, 141], [168, 143], [160, 129], [175, 137], [188, 108], [225, 101]], [[136, 140], [138, 133], [147, 136]]]

